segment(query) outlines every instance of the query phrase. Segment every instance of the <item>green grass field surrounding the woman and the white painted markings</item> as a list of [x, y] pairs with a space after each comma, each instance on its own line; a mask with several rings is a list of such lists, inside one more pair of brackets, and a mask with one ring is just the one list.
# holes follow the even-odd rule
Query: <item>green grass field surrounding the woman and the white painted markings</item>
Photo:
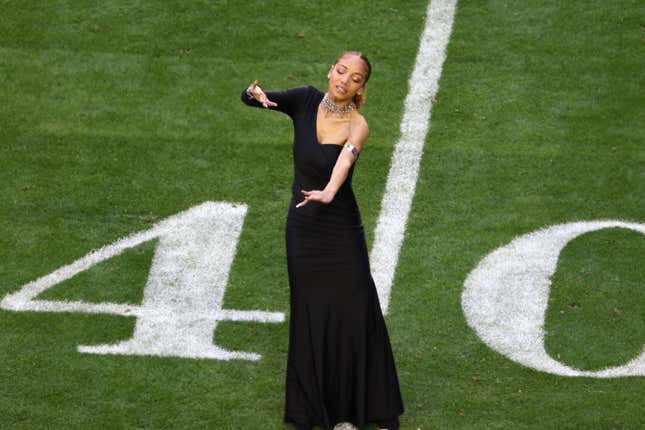
[[[0, 296], [205, 201], [248, 206], [227, 309], [288, 311], [287, 117], [239, 101], [374, 66], [354, 189], [372, 243], [425, 1], [2, 1]], [[645, 222], [642, 2], [458, 2], [393, 285], [402, 429], [640, 429], [645, 378], [538, 372], [486, 346], [464, 280], [514, 237]], [[563, 250], [549, 354], [595, 370], [645, 342], [645, 240], [606, 229]], [[156, 242], [39, 296], [136, 305]], [[90, 355], [135, 318], [0, 310], [0, 427], [283, 429], [286, 323], [221, 322], [259, 361]]]

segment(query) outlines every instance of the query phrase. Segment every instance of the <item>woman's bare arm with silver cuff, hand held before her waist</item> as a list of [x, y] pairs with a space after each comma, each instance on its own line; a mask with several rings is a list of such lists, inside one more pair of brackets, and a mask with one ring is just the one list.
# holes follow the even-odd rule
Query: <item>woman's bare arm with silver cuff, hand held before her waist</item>
[[[352, 124], [352, 128], [349, 131], [349, 137], [347, 138], [347, 143], [340, 150], [340, 155], [336, 160], [334, 165], [334, 170], [331, 172], [331, 178], [325, 186], [325, 189], [320, 190], [311, 190], [305, 191], [301, 190], [302, 194], [305, 195], [305, 199], [296, 205], [297, 208], [302, 207], [309, 203], [310, 201], [317, 201], [320, 203], [330, 203], [334, 200], [336, 193], [340, 189], [345, 179], [347, 179], [347, 174], [349, 169], [352, 167], [352, 164], [356, 161], [358, 153], [363, 148], [363, 142], [367, 139], [369, 135], [369, 128], [367, 127], [367, 121], [361, 116], [356, 121], [356, 124]], [[353, 145], [355, 152], [348, 149], [349, 145]]]

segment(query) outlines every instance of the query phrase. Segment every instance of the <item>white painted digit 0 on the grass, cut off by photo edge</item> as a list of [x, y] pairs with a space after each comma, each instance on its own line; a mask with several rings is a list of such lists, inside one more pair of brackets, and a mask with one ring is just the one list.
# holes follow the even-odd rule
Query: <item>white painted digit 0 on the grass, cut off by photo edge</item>
[[468, 324], [492, 349], [524, 366], [562, 376], [645, 376], [645, 349], [630, 362], [598, 371], [562, 364], [544, 349], [544, 320], [551, 276], [565, 245], [584, 233], [645, 224], [588, 221], [560, 224], [520, 236], [488, 254], [468, 275], [462, 307]]

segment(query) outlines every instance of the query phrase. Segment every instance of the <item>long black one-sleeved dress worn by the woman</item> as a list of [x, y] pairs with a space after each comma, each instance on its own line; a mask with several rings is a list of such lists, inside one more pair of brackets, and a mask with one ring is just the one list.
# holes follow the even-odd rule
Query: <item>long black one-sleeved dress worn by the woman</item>
[[[352, 191], [356, 163], [331, 203], [296, 208], [301, 190], [325, 188], [342, 146], [318, 142], [322, 92], [310, 86], [266, 94], [278, 104], [270, 109], [288, 114], [294, 124], [284, 421], [307, 430], [345, 421], [396, 429], [403, 401]], [[261, 107], [244, 92], [242, 101]]]

